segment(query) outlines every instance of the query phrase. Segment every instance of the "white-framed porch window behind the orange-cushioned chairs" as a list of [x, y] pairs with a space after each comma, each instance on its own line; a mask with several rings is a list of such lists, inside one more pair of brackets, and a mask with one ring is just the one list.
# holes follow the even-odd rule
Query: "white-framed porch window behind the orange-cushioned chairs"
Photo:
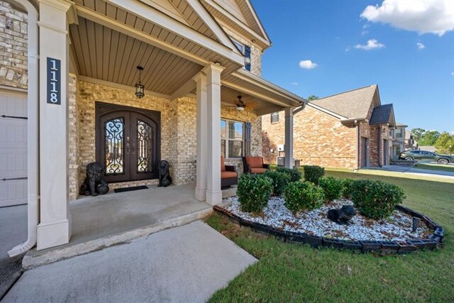
[[221, 155], [223, 158], [243, 157], [244, 123], [221, 120]]

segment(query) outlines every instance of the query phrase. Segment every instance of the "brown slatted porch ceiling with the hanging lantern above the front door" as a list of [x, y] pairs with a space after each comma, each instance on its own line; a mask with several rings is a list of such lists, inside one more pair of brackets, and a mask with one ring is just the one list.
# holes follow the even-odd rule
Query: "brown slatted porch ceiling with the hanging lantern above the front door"
[[131, 36], [79, 17], [70, 26], [73, 55], [79, 75], [133, 87], [135, 67], [144, 67], [145, 89], [170, 95], [202, 68]]

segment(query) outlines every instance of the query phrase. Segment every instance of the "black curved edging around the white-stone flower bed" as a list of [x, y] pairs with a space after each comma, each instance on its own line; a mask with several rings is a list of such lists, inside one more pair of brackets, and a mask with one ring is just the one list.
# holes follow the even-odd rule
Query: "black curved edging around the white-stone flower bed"
[[433, 222], [427, 216], [402, 205], [397, 205], [396, 209], [404, 212], [405, 214], [409, 214], [410, 216], [416, 216], [421, 219], [423, 224], [426, 224], [429, 229], [433, 230], [433, 233], [428, 236], [428, 238], [412, 239], [407, 241], [351, 241], [337, 238], [326, 238], [310, 235], [309, 233], [284, 231], [283, 229], [248, 221], [218, 205], [213, 206], [213, 209], [218, 214], [226, 216], [230, 221], [240, 227], [245, 226], [252, 228], [254, 231], [275, 236], [284, 242], [309, 244], [314, 248], [323, 246], [326, 248], [358, 250], [362, 253], [375, 252], [381, 254], [411, 253], [415, 250], [433, 250], [438, 246], [443, 246], [445, 235], [443, 227]]

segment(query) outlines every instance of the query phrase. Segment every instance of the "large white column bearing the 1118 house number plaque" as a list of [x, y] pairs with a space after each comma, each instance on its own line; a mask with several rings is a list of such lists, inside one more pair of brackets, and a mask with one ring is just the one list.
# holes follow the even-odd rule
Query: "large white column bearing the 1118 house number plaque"
[[[68, 22], [67, 1], [40, 0], [40, 224], [37, 249], [70, 241], [71, 218], [68, 199]], [[48, 58], [60, 60], [60, 81], [52, 87]], [[54, 67], [57, 67], [55, 65]], [[52, 70], [54, 72], [55, 70]], [[52, 82], [55, 82], [52, 80]], [[55, 90], [57, 94], [48, 96]], [[60, 102], [52, 104], [48, 102]]]

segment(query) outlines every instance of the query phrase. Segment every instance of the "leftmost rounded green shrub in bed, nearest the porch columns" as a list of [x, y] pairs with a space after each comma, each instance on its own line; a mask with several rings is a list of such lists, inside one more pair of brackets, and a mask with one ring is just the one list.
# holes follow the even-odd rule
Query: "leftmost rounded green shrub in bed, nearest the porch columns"
[[272, 193], [272, 180], [265, 175], [243, 174], [238, 180], [236, 194], [241, 211], [262, 211]]

